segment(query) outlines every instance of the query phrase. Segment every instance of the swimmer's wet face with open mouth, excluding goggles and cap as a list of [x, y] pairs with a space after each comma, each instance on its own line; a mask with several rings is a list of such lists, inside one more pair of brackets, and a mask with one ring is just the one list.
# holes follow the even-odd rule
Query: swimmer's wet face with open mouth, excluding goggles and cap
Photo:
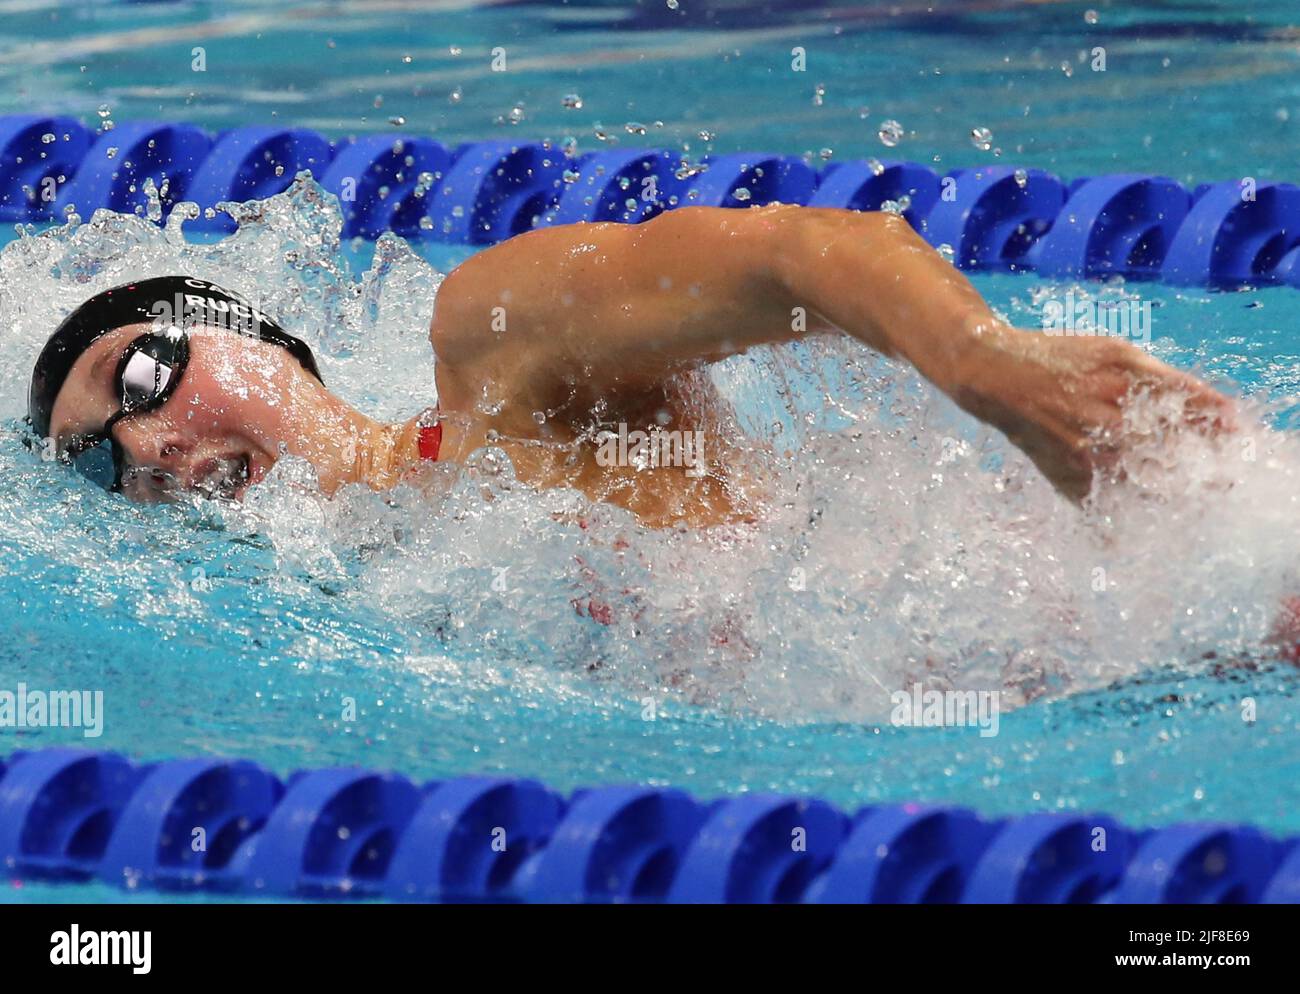
[[[49, 420], [60, 450], [77, 435], [100, 431], [121, 407], [118, 363], [148, 330], [147, 324], [117, 329], [78, 357]], [[127, 414], [113, 426], [125, 460], [122, 494], [138, 502], [186, 492], [242, 498], [274, 465], [295, 408], [309, 404], [316, 389], [277, 346], [195, 329], [176, 391], [157, 409]]]

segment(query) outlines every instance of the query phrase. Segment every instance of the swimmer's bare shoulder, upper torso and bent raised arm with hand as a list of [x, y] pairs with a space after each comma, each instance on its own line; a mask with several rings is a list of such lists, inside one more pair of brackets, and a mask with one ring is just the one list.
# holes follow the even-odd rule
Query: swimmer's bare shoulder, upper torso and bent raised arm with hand
[[603, 464], [582, 439], [597, 422], [707, 431], [689, 422], [699, 412], [681, 400], [682, 373], [832, 331], [910, 363], [1075, 500], [1117, 455], [1135, 386], [1184, 392], [1188, 422], [1227, 417], [1225, 396], [1126, 342], [1000, 321], [893, 214], [694, 207], [641, 225], [541, 229], [456, 268], [430, 329], [443, 457], [495, 439], [525, 482], [576, 485], [647, 524], [728, 520], [744, 508], [725, 459], [703, 476], [646, 472]]

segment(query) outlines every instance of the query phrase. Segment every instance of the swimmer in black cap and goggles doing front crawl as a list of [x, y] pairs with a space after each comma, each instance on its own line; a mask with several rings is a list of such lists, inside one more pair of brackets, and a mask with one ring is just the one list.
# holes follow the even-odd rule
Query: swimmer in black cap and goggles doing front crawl
[[900, 217], [780, 204], [540, 229], [472, 256], [437, 294], [437, 408], [402, 424], [341, 400], [303, 342], [186, 277], [107, 291], [68, 317], [29, 412], [58, 457], [133, 500], [239, 499], [285, 452], [326, 494], [385, 490], [495, 444], [528, 485], [573, 486], [651, 526], [707, 526], [749, 513], [742, 468], [716, 457], [725, 444], [694, 470], [647, 472], [601, 459], [601, 426], [723, 438], [706, 378], [684, 386], [693, 372], [815, 334], [911, 364], [1074, 500], [1115, 461], [1135, 389], [1184, 396], [1190, 426], [1230, 417], [1223, 395], [1126, 342], [1000, 321]]

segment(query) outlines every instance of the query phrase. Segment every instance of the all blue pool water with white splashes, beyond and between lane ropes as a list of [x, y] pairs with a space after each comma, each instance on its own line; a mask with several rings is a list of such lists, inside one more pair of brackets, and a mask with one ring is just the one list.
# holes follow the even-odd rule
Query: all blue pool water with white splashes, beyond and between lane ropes
[[[950, 168], [997, 148], [998, 161], [1071, 178], [1300, 178], [1287, 27], [1300, 4], [1247, 16], [1006, 3], [962, 16], [905, 3], [838, 21], [671, 27], [646, 4], [636, 17], [421, 6], [16, 5], [0, 35], [0, 113], [98, 123], [103, 107], [108, 120], [330, 135], [404, 118], [446, 143], [572, 135], [595, 148], [599, 131], [693, 153], [888, 152]], [[1080, 61], [1097, 44], [1105, 73]], [[190, 70], [195, 45], [204, 73]], [[489, 68], [498, 45], [506, 73]], [[790, 71], [794, 45], [806, 73]], [[568, 94], [581, 109], [563, 105]], [[896, 149], [876, 136], [890, 118], [905, 129]], [[992, 148], [971, 143], [975, 127]], [[1157, 446], [1139, 448], [1153, 459], [1087, 516], [1000, 438], [844, 343], [715, 373], [755, 437], [793, 450], [751, 533], [649, 533], [608, 509], [588, 509], [601, 526], [578, 530], [555, 520], [572, 495], [484, 474], [442, 500], [322, 502], [291, 464], [242, 509], [136, 508], [25, 448], [31, 359], [87, 275], [98, 287], [192, 270], [256, 292], [312, 339], [344, 396], [391, 417], [428, 404], [438, 273], [465, 251], [339, 244], [334, 208], [311, 194], [278, 198], [225, 242], [100, 217], [10, 236], [0, 253], [0, 689], [84, 687], [105, 703], [99, 738], [6, 729], [0, 751], [90, 745], [248, 756], [278, 772], [503, 771], [556, 789], [637, 781], [849, 808], [928, 800], [1300, 830], [1300, 678], [1266, 646], [1277, 605], [1300, 593], [1294, 290], [976, 278], [1022, 325], [1069, 292], [1149, 301], [1152, 351], [1247, 404], [1248, 453], [1190, 442], [1161, 464]], [[1153, 417], [1138, 412], [1136, 426]], [[806, 589], [790, 589], [794, 569]], [[636, 624], [580, 617], [572, 602], [593, 585], [628, 590], [623, 617]], [[719, 647], [723, 624], [732, 637]], [[1019, 707], [991, 738], [894, 728], [887, 690], [915, 680], [997, 687]]]

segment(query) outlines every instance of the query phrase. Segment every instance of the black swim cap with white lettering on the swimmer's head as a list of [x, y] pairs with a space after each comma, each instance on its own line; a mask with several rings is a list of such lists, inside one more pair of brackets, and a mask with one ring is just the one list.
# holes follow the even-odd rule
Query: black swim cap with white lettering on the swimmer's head
[[239, 294], [192, 277], [140, 279], [96, 294], [73, 311], [46, 342], [31, 370], [27, 392], [27, 420], [36, 434], [42, 438], [49, 434], [55, 400], [81, 355], [109, 331], [143, 321], [160, 327], [225, 327], [270, 342], [321, 379], [307, 343], [285, 331]]

